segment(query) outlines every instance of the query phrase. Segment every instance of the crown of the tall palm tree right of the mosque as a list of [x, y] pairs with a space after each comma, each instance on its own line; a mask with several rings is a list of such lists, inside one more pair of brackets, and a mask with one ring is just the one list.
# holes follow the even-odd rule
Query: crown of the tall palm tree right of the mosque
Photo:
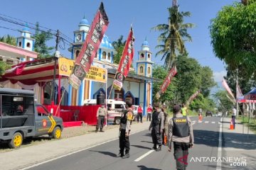
[[[175, 0], [174, 0], [175, 1]], [[170, 69], [176, 60], [176, 50], [179, 54], [186, 53], [184, 45], [185, 41], [191, 41], [191, 35], [188, 34], [187, 29], [193, 28], [193, 23], [183, 23], [183, 18], [191, 16], [190, 12], [179, 12], [176, 2], [174, 6], [168, 8], [169, 11], [169, 23], [159, 24], [152, 28], [161, 32], [158, 38], [160, 45], [156, 46], [156, 49], [160, 49], [156, 52], [156, 56], [162, 55], [161, 60], [164, 60], [164, 67]]]

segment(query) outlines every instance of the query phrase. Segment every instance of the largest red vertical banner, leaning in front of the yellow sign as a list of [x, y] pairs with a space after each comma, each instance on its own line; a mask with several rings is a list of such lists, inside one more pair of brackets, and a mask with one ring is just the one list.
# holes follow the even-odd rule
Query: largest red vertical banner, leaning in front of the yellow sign
[[95, 18], [92, 21], [90, 30], [87, 33], [86, 40], [82, 45], [78, 58], [75, 60], [73, 73], [68, 79], [68, 82], [73, 86], [73, 88], [78, 89], [87, 72], [89, 72], [90, 66], [95, 58], [98, 48], [100, 47], [100, 42], [107, 30], [108, 24], [109, 21], [107, 13], [105, 13], [103, 3], [101, 3]]

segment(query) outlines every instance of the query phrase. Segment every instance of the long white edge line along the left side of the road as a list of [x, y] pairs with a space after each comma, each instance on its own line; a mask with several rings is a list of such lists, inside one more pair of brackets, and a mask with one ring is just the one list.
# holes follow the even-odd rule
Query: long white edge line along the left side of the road
[[[144, 130], [139, 130], [138, 132], [142, 132], [142, 131], [144, 131]], [[131, 133], [130, 135], [134, 135], [135, 133], [138, 133], [138, 132], [133, 132], [133, 133]], [[36, 167], [36, 166], [39, 166], [39, 165], [41, 165], [41, 164], [46, 164], [46, 163], [48, 163], [48, 162], [52, 162], [52, 161], [55, 161], [55, 160], [60, 159], [60, 158], [63, 158], [63, 157], [68, 157], [68, 156], [71, 155], [71, 154], [76, 154], [76, 153], [78, 153], [78, 152], [82, 152], [82, 151], [85, 151], [85, 150], [90, 149], [90, 148], [92, 148], [92, 147], [97, 147], [97, 146], [100, 146], [100, 145], [103, 145], [103, 144], [105, 144], [105, 143], [112, 142], [112, 141], [118, 140], [118, 139], [119, 139], [119, 137], [116, 137], [116, 138], [114, 138], [114, 139], [112, 139], [112, 140], [107, 140], [107, 141], [102, 142], [102, 143], [99, 143], [99, 144], [97, 144], [97, 145], [92, 145], [92, 146], [86, 147], [86, 148], [84, 148], [84, 149], [79, 149], [79, 150], [77, 150], [77, 151], [70, 152], [70, 153], [68, 153], [68, 154], [63, 154], [63, 155], [60, 155], [59, 157], [54, 157], [54, 158], [52, 158], [52, 159], [48, 159], [48, 160], [46, 160], [46, 161], [39, 162], [39, 163], [37, 163], [37, 164], [33, 164], [33, 163], [32, 163], [33, 165], [31, 165], [31, 166], [26, 165], [26, 167], [23, 167], [23, 168], [21, 168], [21, 169], [19, 169], [19, 170], [31, 169], [31, 168]], [[154, 150], [153, 150], [153, 151], [154, 151]]]

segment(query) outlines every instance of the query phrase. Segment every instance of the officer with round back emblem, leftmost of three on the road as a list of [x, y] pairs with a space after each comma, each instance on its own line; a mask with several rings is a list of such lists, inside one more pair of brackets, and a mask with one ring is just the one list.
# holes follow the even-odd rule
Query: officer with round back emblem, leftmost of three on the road
[[[131, 124], [134, 118], [134, 113], [132, 109], [132, 102], [127, 101], [126, 110], [121, 118], [120, 128], [119, 128], [119, 154], [117, 157], [129, 158], [129, 132], [131, 131]], [[125, 149], [125, 154], [124, 154]]]

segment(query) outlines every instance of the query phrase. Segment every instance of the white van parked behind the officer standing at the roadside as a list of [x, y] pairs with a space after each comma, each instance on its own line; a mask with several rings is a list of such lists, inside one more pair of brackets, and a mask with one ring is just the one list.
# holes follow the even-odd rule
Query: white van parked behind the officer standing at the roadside
[[[86, 99], [84, 105], [96, 105], [96, 99]], [[124, 101], [107, 100], [107, 122], [120, 124], [125, 109]]]

